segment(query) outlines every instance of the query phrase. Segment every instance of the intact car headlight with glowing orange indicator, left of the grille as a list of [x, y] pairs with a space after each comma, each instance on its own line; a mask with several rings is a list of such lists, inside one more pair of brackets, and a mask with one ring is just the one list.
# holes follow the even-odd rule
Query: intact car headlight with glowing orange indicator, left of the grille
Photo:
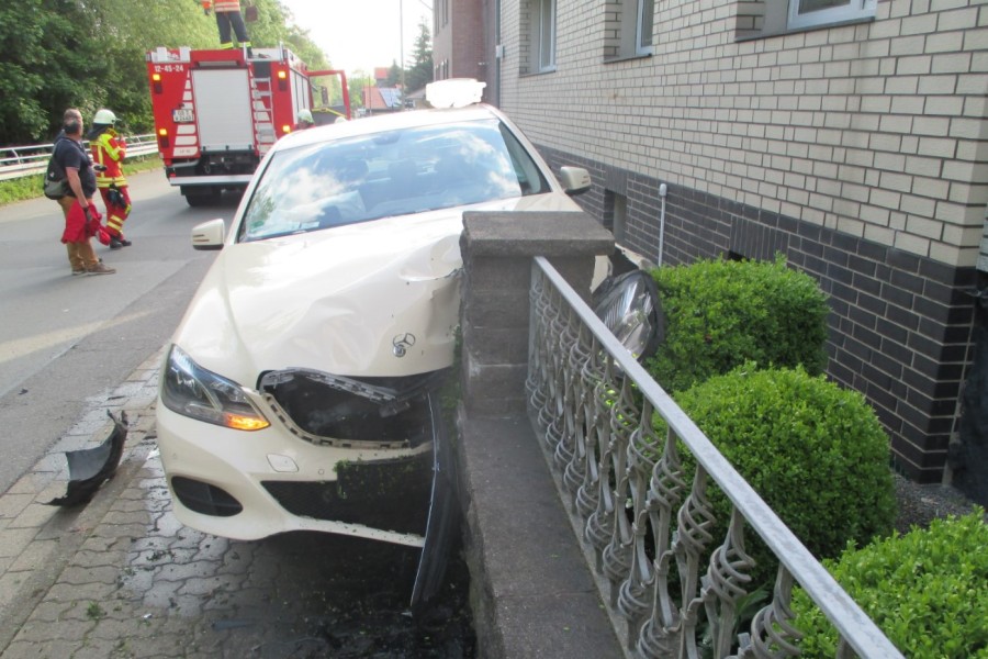
[[237, 431], [271, 425], [239, 384], [202, 368], [175, 345], [161, 373], [161, 402], [183, 416]]

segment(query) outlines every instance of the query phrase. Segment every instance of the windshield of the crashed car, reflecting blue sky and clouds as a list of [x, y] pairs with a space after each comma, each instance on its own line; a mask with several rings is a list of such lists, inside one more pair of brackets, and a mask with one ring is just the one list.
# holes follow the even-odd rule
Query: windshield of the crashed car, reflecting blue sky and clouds
[[493, 118], [287, 148], [260, 176], [240, 242], [549, 191]]

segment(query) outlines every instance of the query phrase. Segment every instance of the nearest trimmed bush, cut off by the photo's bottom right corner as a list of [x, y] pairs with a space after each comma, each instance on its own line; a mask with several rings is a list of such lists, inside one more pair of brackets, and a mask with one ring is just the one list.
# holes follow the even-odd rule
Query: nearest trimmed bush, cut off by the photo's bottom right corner
[[[847, 594], [910, 659], [988, 657], [988, 524], [984, 510], [849, 547], [824, 561]], [[795, 625], [804, 657], [834, 657], [837, 630], [801, 590]]]

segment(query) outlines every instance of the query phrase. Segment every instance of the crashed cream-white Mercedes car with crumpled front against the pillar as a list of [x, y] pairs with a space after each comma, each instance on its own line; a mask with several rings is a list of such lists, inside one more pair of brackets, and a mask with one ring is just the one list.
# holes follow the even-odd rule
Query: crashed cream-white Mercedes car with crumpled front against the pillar
[[422, 547], [440, 533], [437, 401], [463, 211], [579, 211], [587, 171], [561, 179], [479, 103], [281, 138], [229, 231], [193, 230], [195, 248], [222, 252], [161, 373], [179, 521], [240, 539], [308, 529]]

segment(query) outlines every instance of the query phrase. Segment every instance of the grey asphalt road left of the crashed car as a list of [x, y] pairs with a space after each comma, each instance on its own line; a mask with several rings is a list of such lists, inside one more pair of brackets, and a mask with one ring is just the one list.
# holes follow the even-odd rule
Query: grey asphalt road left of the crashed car
[[192, 227], [236, 210], [189, 208], [160, 170], [130, 185], [133, 245], [93, 242], [115, 275], [71, 276], [55, 202], [0, 208], [0, 492], [168, 340], [216, 254], [192, 249]]

